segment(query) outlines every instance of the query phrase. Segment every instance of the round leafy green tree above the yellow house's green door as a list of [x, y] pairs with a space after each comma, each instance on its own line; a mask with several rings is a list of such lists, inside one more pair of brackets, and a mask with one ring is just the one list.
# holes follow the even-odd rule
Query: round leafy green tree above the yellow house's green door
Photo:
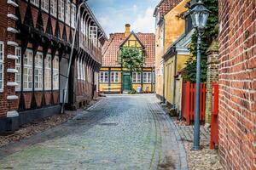
[[128, 71], [141, 71], [144, 59], [142, 51], [137, 48], [122, 48], [119, 54], [119, 65]]

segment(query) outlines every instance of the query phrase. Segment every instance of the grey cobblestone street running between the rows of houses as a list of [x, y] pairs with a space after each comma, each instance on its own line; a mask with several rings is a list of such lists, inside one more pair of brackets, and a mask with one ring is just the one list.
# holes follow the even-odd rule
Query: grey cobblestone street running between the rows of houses
[[108, 96], [59, 127], [0, 148], [0, 169], [166, 167], [187, 169], [187, 161], [154, 95]]

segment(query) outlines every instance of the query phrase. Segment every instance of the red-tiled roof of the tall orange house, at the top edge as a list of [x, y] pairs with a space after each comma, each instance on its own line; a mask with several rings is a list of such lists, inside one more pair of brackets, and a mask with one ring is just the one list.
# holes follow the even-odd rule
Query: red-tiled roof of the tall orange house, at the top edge
[[172, 8], [177, 6], [178, 3], [182, 2], [183, 0], [161, 0], [160, 3], [154, 9], [154, 16], [156, 16], [156, 12], [160, 12], [160, 16], [166, 15]]

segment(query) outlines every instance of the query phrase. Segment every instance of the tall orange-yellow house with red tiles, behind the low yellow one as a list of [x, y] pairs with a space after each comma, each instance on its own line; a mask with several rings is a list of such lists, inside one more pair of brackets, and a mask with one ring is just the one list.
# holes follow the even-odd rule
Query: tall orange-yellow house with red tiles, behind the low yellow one
[[[176, 15], [185, 10], [182, 6], [188, 1], [176, 0], [161, 0], [154, 9], [155, 17], [155, 94], [165, 101], [165, 60], [164, 54], [167, 48], [177, 40], [183, 33], [183, 20], [177, 20]], [[180, 3], [180, 4], [179, 4]], [[181, 25], [180, 25], [181, 24]], [[177, 27], [176, 27], [177, 26]]]

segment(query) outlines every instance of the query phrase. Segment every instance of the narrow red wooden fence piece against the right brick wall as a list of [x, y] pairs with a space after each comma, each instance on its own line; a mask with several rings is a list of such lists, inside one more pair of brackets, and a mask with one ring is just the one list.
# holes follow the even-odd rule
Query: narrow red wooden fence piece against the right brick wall
[[210, 149], [218, 145], [218, 83], [212, 83], [212, 114]]

